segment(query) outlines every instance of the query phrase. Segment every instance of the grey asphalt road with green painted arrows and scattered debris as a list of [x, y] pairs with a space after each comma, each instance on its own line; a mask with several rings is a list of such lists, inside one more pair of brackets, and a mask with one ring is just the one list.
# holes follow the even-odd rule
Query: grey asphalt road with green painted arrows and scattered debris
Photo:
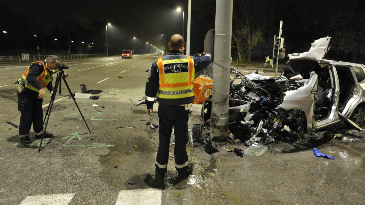
[[[158, 124], [157, 105], [150, 117], [145, 105], [134, 104], [144, 96], [146, 70], [157, 57], [62, 60], [69, 66], [66, 81], [73, 93], [81, 93], [81, 84], [103, 92], [96, 94], [98, 100], [76, 100], [89, 134], [62, 82], [47, 125], [55, 137], [45, 139], [39, 153], [40, 140], [32, 130], [34, 143], [21, 144], [18, 128], [6, 123], [19, 124], [14, 82], [29, 63], [0, 65], [0, 204], [364, 203], [364, 132], [339, 126], [330, 131], [341, 133], [341, 140], [313, 144], [334, 160], [284, 143], [272, 153], [266, 146], [227, 144], [211, 155], [203, 146], [187, 145], [194, 171], [181, 180], [176, 178], [172, 144], [168, 174], [164, 181], [155, 180], [158, 128], [146, 123]], [[50, 94], [43, 101], [44, 111], [49, 101]], [[193, 105], [192, 123], [201, 123], [200, 109]], [[242, 158], [226, 150], [236, 147], [245, 151]], [[128, 184], [133, 181], [137, 183]]]

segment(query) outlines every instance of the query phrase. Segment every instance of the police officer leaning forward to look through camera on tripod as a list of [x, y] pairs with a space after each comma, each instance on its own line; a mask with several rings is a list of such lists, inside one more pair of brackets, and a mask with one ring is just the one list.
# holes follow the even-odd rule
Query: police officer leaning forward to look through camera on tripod
[[[18, 110], [21, 113], [19, 124], [19, 138], [22, 143], [32, 143], [29, 138], [29, 131], [33, 123], [35, 138], [41, 139], [43, 130], [43, 109], [42, 102], [46, 96], [47, 88], [51, 95], [53, 85], [50, 70], [57, 70], [59, 58], [50, 55], [45, 61], [33, 62], [18, 83]], [[45, 138], [53, 137], [50, 133], [45, 133]]]

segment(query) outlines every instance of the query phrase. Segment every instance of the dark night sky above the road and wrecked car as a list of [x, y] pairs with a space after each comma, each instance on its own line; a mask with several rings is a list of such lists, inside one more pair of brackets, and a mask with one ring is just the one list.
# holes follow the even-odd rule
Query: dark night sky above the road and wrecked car
[[[246, 29], [261, 32], [251, 52], [252, 60], [272, 54], [273, 37], [283, 20], [282, 36], [287, 53], [308, 51], [314, 40], [330, 36], [335, 60], [365, 61], [365, 4], [362, 0], [234, 0], [232, 57], [237, 59], [236, 39], [242, 38], [240, 53], [249, 56]], [[192, 0], [190, 54], [202, 53], [205, 34], [215, 26], [215, 0]], [[0, 0], [0, 55], [30, 53], [106, 53], [123, 49], [147, 53], [171, 35], [186, 40], [188, 0]], [[246, 18], [247, 16], [247, 18]], [[249, 22], [249, 26], [245, 25]], [[3, 33], [2, 31], [7, 31]], [[35, 37], [34, 35], [37, 35]], [[235, 39], [235, 37], [236, 39]], [[70, 40], [68, 40], [68, 36]], [[133, 37], [135, 40], [132, 40]], [[251, 35], [252, 37], [252, 35]], [[54, 40], [54, 39], [57, 39]], [[81, 42], [84, 42], [82, 44]], [[146, 43], [148, 42], [148, 43]], [[89, 43], [92, 47], [87, 50]], [[162, 46], [158, 46], [162, 50]], [[80, 51], [81, 48], [81, 51]], [[250, 55], [251, 55], [250, 54]]]

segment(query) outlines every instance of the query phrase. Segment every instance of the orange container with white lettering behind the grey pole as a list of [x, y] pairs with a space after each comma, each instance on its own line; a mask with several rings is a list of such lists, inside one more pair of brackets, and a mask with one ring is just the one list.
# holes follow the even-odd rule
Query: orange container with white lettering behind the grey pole
[[213, 81], [204, 78], [195, 78], [194, 86], [194, 102], [193, 104], [202, 104], [212, 94]]

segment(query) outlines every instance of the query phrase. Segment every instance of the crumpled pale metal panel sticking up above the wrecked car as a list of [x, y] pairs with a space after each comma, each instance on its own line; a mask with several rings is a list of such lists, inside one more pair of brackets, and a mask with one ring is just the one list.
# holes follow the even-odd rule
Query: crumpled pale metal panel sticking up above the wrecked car
[[328, 44], [330, 43], [331, 37], [324, 37], [315, 40], [311, 45], [309, 51], [304, 53], [293, 53], [288, 54], [289, 59], [308, 59], [312, 61], [321, 61], [327, 52]]

